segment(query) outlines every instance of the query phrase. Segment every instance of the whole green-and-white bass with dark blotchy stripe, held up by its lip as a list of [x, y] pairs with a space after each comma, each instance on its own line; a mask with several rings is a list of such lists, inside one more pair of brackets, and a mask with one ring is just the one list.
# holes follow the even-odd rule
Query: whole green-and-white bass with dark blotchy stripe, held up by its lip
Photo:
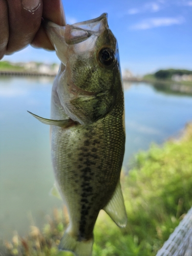
[[61, 61], [54, 80], [51, 155], [56, 187], [69, 212], [60, 250], [92, 255], [93, 230], [103, 209], [125, 227], [120, 185], [125, 147], [124, 96], [115, 36], [108, 14], [85, 22], [45, 24]]

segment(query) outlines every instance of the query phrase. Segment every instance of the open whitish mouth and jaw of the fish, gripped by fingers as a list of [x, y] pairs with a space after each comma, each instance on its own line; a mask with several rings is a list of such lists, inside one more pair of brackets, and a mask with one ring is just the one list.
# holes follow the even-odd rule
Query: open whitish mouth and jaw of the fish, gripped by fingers
[[[103, 13], [97, 18], [61, 27], [49, 20], [44, 21], [46, 33], [56, 51], [57, 57], [66, 66], [69, 53], [93, 50], [96, 38], [103, 30], [108, 29], [108, 14]], [[86, 46], [80, 46], [86, 41]], [[74, 45], [76, 45], [74, 47]]]

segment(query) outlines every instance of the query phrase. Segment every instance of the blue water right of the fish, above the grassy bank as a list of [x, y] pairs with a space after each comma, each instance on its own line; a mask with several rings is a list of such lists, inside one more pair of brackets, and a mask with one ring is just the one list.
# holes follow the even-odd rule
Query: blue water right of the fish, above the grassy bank
[[157, 90], [154, 84], [132, 83], [125, 91], [126, 167], [136, 152], [146, 150], [152, 142], [161, 144], [178, 136], [185, 123], [192, 120], [191, 99]]

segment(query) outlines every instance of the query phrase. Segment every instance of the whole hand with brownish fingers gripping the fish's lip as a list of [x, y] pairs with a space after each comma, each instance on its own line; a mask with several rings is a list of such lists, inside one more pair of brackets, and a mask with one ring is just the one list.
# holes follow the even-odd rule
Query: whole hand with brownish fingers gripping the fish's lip
[[0, 0], [0, 59], [28, 44], [54, 50], [41, 17], [66, 25], [61, 0]]

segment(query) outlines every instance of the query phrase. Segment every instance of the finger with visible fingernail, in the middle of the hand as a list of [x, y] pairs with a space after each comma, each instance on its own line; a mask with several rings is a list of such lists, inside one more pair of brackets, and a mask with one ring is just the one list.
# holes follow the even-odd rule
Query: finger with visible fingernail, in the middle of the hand
[[33, 40], [41, 23], [42, 0], [7, 0], [9, 41], [7, 53], [18, 51]]

